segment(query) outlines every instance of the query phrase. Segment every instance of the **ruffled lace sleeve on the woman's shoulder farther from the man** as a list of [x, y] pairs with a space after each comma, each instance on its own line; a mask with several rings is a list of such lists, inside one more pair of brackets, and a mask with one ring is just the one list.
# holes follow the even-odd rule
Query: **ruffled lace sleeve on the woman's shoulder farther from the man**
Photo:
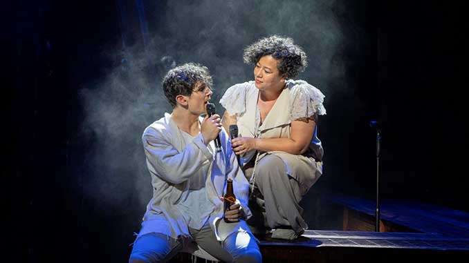
[[326, 108], [322, 105], [325, 97], [324, 94], [306, 81], [297, 80], [293, 82], [291, 97], [290, 119], [292, 121], [304, 117], [312, 117], [315, 114], [326, 114]]

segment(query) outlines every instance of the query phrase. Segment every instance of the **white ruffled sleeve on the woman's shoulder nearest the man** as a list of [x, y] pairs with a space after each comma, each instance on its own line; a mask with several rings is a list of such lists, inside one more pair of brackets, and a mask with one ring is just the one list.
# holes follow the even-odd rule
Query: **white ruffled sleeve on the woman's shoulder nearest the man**
[[236, 84], [226, 90], [220, 99], [220, 104], [230, 115], [243, 115], [246, 112], [246, 90], [248, 82]]

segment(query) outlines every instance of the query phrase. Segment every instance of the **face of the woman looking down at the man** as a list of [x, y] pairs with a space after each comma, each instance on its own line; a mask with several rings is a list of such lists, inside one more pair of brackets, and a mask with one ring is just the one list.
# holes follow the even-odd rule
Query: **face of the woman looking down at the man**
[[279, 61], [271, 55], [265, 55], [254, 67], [255, 86], [259, 90], [281, 90], [285, 86], [285, 76], [277, 68]]

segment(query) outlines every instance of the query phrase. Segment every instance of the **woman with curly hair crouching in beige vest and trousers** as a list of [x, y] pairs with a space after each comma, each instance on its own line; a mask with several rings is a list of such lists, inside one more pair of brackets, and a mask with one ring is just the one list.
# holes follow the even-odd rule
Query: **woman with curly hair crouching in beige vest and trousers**
[[232, 147], [250, 179], [251, 196], [265, 209], [264, 224], [273, 238], [293, 240], [308, 227], [299, 202], [322, 175], [317, 123], [326, 114], [324, 95], [292, 79], [307, 63], [291, 38], [259, 39], [243, 59], [254, 64], [255, 80], [226, 90], [222, 123], [226, 130], [231, 124], [239, 128]]

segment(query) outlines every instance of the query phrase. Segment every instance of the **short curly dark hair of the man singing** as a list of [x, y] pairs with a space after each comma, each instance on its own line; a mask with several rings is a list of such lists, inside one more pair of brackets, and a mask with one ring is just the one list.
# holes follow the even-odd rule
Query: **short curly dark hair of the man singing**
[[[196, 63], [187, 63], [172, 68], [163, 78], [163, 91], [169, 104], [176, 106], [176, 96], [190, 96], [194, 91], [212, 89], [213, 81], [208, 68]], [[197, 88], [197, 90], [194, 90]]]

